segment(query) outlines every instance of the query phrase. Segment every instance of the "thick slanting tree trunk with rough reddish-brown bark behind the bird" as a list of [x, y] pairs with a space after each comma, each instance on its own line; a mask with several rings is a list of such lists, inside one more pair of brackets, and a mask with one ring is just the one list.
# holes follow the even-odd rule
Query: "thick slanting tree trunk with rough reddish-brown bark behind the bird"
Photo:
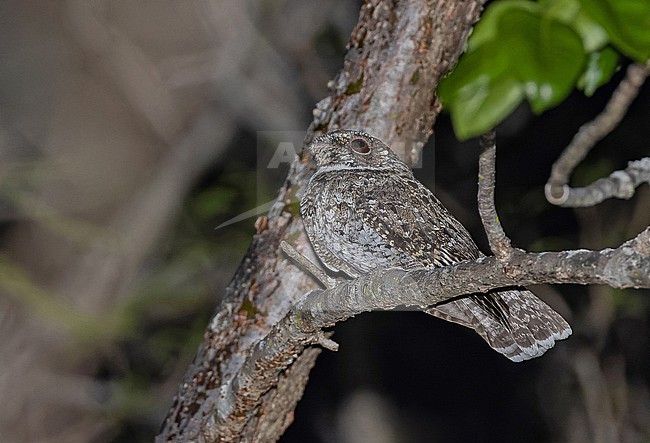
[[[482, 3], [367, 1], [343, 70], [331, 83], [330, 96], [314, 110], [306, 141], [316, 132], [363, 128], [414, 163], [440, 111], [436, 85], [462, 52]], [[158, 442], [275, 441], [291, 423], [319, 349], [302, 352], [302, 347], [291, 348], [294, 342], [288, 337], [280, 337], [278, 345], [291, 349], [283, 354], [287, 358], [266, 361], [277, 369], [263, 372], [272, 374], [269, 378], [244, 380], [247, 372], [240, 369], [253, 345], [315, 287], [279, 248], [286, 238], [309, 253], [296, 209], [310, 173], [306, 158], [295, 162], [268, 219], [258, 224], [259, 232], [205, 332]], [[243, 374], [237, 382], [241, 389], [232, 384], [238, 372]], [[260, 381], [264, 388], [249, 393], [245, 381]], [[237, 392], [237, 397], [224, 396], [226, 392]]]

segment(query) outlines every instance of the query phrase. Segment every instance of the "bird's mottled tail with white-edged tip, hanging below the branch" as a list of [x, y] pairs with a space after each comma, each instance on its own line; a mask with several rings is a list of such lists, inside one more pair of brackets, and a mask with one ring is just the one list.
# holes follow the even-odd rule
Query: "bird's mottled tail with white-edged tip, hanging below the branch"
[[512, 361], [539, 357], [571, 335], [571, 326], [527, 289], [509, 289], [454, 299], [427, 313], [474, 329]]

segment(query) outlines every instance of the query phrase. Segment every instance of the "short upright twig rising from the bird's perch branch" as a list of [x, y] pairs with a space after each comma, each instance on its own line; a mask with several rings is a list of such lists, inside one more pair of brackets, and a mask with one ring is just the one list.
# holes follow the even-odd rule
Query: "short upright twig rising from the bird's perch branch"
[[494, 255], [506, 260], [512, 254], [510, 239], [506, 235], [494, 205], [496, 175], [496, 131], [481, 136], [481, 155], [478, 160], [478, 211]]

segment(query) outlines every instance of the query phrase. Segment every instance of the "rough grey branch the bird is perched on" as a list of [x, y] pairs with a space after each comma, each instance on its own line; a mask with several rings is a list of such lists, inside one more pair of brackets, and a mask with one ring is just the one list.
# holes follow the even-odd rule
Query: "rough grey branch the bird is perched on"
[[527, 253], [511, 249], [507, 259], [481, 257], [444, 268], [376, 269], [355, 280], [305, 295], [255, 345], [219, 404], [219, 423], [261, 401], [275, 378], [319, 332], [363, 312], [400, 306], [425, 309], [452, 297], [508, 286], [542, 283], [607, 284], [650, 288], [650, 228], [616, 249]]

